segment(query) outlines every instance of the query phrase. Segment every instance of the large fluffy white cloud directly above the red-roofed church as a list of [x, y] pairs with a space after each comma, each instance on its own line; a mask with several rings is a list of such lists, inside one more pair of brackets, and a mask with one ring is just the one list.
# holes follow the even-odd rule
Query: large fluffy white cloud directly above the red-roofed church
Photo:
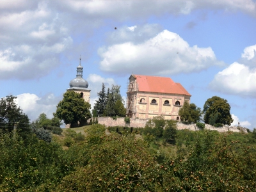
[[[189, 46], [176, 33], [164, 30], [153, 38], [136, 44], [125, 42], [98, 51], [100, 69], [115, 74], [177, 74], [198, 72], [221, 65], [211, 47]], [[161, 66], [161, 67], [159, 67]]]

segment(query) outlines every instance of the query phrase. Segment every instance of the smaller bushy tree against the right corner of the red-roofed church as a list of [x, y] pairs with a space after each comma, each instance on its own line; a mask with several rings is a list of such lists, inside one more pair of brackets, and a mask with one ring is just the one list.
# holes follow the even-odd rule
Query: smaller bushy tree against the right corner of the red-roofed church
[[188, 121], [189, 124], [200, 121], [201, 109], [196, 107], [195, 104], [189, 104], [188, 101], [179, 110], [180, 120]]

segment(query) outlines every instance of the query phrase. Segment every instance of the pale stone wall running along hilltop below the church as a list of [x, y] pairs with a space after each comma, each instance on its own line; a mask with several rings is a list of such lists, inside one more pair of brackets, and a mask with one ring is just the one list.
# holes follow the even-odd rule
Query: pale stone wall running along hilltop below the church
[[[148, 122], [148, 119], [139, 119], [139, 118], [131, 118], [131, 122], [129, 127], [145, 127], [146, 123]], [[116, 120], [113, 120], [111, 117], [99, 117], [98, 118], [98, 123], [102, 125], [106, 125], [107, 127], [109, 126], [125, 126], [125, 121], [124, 117], [117, 118]], [[199, 131], [200, 129], [196, 127], [196, 124], [190, 124], [190, 125], [185, 125], [180, 122], [177, 123], [177, 129], [189, 129], [191, 131]], [[227, 131], [232, 131], [232, 132], [246, 132], [247, 130], [243, 127], [236, 127], [236, 126], [226, 126], [224, 125], [223, 127], [213, 127], [212, 125], [205, 124], [205, 129], [209, 130], [216, 130], [218, 132], [227, 132]]]

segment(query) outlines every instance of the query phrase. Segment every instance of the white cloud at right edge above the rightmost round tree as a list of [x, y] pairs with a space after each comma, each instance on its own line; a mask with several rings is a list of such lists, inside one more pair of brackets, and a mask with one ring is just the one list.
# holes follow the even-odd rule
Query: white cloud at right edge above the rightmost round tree
[[256, 69], [237, 62], [218, 72], [209, 84], [212, 90], [232, 95], [256, 97]]

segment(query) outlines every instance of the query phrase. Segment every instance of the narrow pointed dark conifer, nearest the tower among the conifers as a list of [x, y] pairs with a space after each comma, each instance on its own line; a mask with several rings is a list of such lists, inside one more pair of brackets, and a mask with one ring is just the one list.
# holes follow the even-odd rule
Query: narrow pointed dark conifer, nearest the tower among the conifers
[[106, 95], [106, 92], [105, 92], [104, 83], [102, 83], [102, 89], [98, 93], [98, 96], [99, 96], [99, 99], [96, 100], [96, 103], [95, 103], [94, 108], [93, 108], [93, 111], [94, 111], [93, 115], [102, 116], [104, 114], [104, 110], [106, 109], [107, 99], [108, 99], [107, 95]]

